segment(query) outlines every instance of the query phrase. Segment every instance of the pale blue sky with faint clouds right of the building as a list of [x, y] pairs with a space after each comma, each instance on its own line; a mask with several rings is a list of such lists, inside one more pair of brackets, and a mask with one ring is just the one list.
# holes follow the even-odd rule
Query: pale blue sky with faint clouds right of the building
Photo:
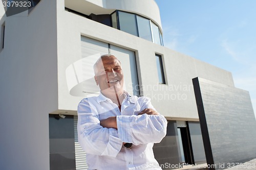
[[155, 1], [164, 46], [232, 72], [256, 115], [256, 1]]

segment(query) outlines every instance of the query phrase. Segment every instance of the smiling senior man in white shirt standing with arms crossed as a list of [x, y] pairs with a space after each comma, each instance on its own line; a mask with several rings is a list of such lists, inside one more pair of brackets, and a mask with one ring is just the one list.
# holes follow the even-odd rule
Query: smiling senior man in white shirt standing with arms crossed
[[167, 121], [146, 97], [123, 90], [120, 61], [103, 55], [94, 64], [97, 97], [78, 105], [78, 141], [87, 153], [89, 169], [161, 169], [154, 143], [166, 135]]

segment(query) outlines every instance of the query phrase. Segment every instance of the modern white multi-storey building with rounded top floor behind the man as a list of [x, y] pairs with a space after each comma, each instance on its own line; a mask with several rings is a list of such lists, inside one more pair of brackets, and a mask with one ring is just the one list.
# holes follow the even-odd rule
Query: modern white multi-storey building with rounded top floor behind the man
[[150, 97], [168, 120], [154, 147], [159, 164], [206, 163], [192, 79], [234, 87], [232, 75], [164, 47], [154, 0], [36, 4], [8, 17], [0, 6], [0, 169], [87, 169], [77, 105], [99, 93], [92, 65], [108, 53], [126, 90]]

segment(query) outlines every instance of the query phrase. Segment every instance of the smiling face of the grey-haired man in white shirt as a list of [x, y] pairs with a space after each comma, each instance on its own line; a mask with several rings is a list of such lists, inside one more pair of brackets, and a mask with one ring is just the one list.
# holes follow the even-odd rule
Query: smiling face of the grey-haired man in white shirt
[[[100, 90], [123, 90], [123, 72], [120, 62], [116, 57], [103, 57], [102, 62], [97, 64], [97, 75], [95, 81]], [[115, 89], [114, 89], [115, 87]]]

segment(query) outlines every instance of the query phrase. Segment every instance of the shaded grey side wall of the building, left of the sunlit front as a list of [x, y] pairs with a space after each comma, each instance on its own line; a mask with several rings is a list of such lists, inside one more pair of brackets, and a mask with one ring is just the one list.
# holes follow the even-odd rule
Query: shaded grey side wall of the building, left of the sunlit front
[[3, 20], [0, 169], [49, 169], [49, 113], [57, 109], [56, 2], [41, 1], [29, 15]]

